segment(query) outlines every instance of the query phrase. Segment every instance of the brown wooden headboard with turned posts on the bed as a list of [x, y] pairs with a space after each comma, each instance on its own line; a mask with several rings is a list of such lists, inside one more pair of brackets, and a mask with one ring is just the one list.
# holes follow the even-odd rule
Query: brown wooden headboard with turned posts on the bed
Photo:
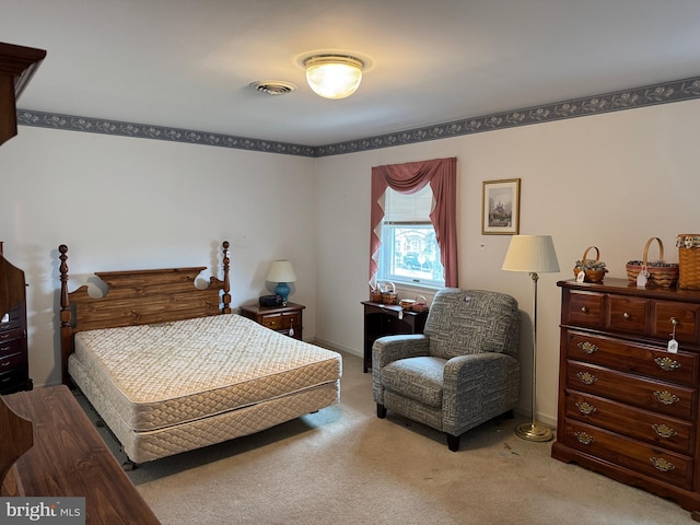
[[[231, 281], [229, 278], [229, 243], [222, 244], [223, 281], [211, 277], [203, 290], [195, 279], [207, 269], [164, 268], [155, 270], [124, 270], [95, 272], [108, 289], [102, 298], [91, 298], [88, 285], [68, 292], [68, 246], [60, 253], [60, 324], [61, 381], [70, 386], [68, 357], [73, 353], [73, 336], [81, 330], [150, 325], [173, 320], [231, 313]], [[223, 292], [223, 293], [222, 293]]]

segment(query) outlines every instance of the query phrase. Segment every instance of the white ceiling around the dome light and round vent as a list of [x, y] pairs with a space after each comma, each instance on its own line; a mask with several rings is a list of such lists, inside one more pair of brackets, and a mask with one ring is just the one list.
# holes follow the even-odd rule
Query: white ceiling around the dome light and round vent
[[20, 108], [323, 145], [698, 77], [700, 0], [0, 0], [0, 39], [48, 51]]

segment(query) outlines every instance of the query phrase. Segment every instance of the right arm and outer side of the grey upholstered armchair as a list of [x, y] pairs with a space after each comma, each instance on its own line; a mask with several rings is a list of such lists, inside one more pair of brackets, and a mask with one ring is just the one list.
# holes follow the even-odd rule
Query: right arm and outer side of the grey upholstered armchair
[[443, 378], [444, 431], [459, 435], [517, 404], [520, 363], [505, 353], [452, 358]]

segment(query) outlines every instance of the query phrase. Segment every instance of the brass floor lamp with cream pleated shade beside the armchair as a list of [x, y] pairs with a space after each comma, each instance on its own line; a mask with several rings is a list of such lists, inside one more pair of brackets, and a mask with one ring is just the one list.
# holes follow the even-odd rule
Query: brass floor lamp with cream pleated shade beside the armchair
[[559, 271], [557, 253], [550, 235], [513, 235], [508, 247], [503, 270], [527, 271], [533, 279], [533, 400], [530, 422], [515, 429], [518, 438], [528, 441], [549, 441], [553, 438], [551, 429], [537, 422], [535, 402], [537, 398], [537, 280], [538, 273]]

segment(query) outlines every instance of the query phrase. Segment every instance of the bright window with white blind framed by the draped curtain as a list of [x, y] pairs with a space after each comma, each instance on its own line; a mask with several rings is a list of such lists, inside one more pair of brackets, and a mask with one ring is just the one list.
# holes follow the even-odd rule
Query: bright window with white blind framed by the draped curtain
[[430, 185], [415, 194], [386, 188], [378, 258], [380, 280], [444, 287], [440, 248], [430, 221], [432, 207]]

